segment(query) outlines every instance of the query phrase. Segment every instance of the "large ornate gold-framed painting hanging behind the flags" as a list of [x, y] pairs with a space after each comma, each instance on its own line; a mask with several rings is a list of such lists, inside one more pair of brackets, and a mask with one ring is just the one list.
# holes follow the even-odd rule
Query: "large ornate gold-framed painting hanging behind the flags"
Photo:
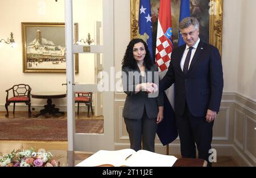
[[[131, 39], [133, 39], [135, 36], [138, 35], [138, 32], [139, 32], [139, 29], [138, 29], [139, 0], [130, 0], [130, 1], [131, 1], [131, 4], [130, 4], [131, 5], [131, 13], [130, 13], [130, 16], [131, 16]], [[205, 36], [207, 36], [207, 39], [209, 39], [209, 40], [206, 42], [216, 46], [216, 48], [218, 48], [218, 50], [220, 51], [220, 54], [221, 54], [222, 53], [223, 0], [208, 0], [208, 1], [205, 1], [205, 0], [193, 1], [193, 2], [191, 1], [191, 4], [193, 4], [195, 2], [204, 3], [204, 6], [203, 6], [203, 7], [205, 7], [204, 12], [208, 12], [208, 14], [209, 14], [209, 17], [205, 18], [205, 19], [209, 19], [209, 22], [207, 22], [207, 24], [209, 24], [209, 26], [208, 26], [209, 31], [208, 31], [208, 35], [205, 35]], [[153, 18], [154, 13], [152, 13], [152, 8], [154, 8], [154, 6], [156, 6], [154, 10], [158, 11], [159, 0], [151, 0], [150, 2], [151, 2], [151, 14], [152, 14], [152, 18]], [[172, 4], [173, 3], [180, 3], [180, 0], [172, 0]], [[157, 4], [158, 4], [158, 7], [157, 7]], [[180, 6], [176, 6], [176, 8], [179, 9]], [[176, 14], [175, 14], [175, 16], [172, 14], [172, 28], [173, 29], [176, 28], [176, 31], [177, 31], [177, 26], [179, 23], [179, 14], [177, 13], [176, 9], [174, 9], [174, 10], [172, 9], [172, 12], [173, 11], [176, 12]], [[156, 12], [156, 14], [158, 14], [158, 12]], [[152, 20], [154, 20], [154, 19], [152, 19]], [[154, 33], [154, 29], [156, 29], [156, 27], [154, 27], [154, 23], [152, 23], [152, 28], [153, 28], [153, 33]], [[200, 35], [204, 35], [204, 34], [202, 34], [203, 32], [204, 31], [201, 31], [201, 27], [200, 27]], [[173, 31], [173, 34], [174, 34], [174, 31]], [[154, 38], [154, 34], [153, 34], [153, 38]], [[177, 35], [175, 37], [173, 36], [173, 40], [174, 41], [177, 40]]]

